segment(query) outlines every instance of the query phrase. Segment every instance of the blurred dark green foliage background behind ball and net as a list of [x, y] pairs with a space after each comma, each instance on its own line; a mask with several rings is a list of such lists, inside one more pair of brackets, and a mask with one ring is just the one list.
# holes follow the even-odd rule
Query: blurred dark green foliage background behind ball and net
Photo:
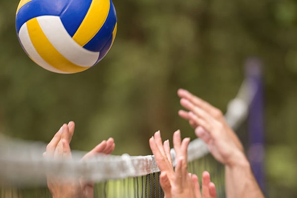
[[17, 0], [0, 0], [0, 132], [49, 142], [73, 120], [71, 147], [90, 150], [113, 137], [114, 154], [150, 154], [148, 138], [181, 129], [185, 88], [223, 112], [263, 63], [265, 185], [270, 198], [297, 197], [297, 1], [113, 0], [118, 32], [108, 54], [77, 74], [51, 73], [21, 48]]

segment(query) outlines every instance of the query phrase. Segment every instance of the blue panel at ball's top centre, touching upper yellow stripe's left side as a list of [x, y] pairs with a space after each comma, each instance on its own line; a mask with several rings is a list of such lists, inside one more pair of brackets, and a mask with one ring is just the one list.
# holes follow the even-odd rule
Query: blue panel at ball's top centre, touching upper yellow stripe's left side
[[71, 2], [65, 7], [60, 15], [61, 21], [68, 34], [73, 37], [80, 24], [84, 20], [92, 0], [70, 0]]

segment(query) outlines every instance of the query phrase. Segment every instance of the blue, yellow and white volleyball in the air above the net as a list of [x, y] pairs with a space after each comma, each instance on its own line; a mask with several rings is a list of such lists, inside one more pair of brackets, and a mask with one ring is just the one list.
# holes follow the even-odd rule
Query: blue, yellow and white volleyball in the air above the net
[[21, 0], [15, 23], [27, 55], [41, 67], [64, 74], [96, 65], [117, 30], [111, 0]]

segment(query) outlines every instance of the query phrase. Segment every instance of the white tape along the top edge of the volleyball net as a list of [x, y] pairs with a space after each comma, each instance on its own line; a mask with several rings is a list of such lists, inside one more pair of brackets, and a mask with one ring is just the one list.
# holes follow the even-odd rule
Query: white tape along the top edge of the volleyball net
[[[228, 104], [225, 118], [236, 130], [246, 119], [248, 105], [256, 92], [255, 85], [243, 82], [237, 97]], [[25, 142], [0, 137], [0, 181], [13, 185], [45, 185], [46, 174], [63, 178], [84, 178], [87, 181], [101, 182], [110, 179], [138, 177], [158, 172], [153, 155], [130, 156], [97, 155], [84, 161], [79, 159], [85, 154], [73, 151], [72, 160], [47, 159], [42, 156], [46, 144]], [[199, 139], [192, 141], [188, 148], [188, 160], [198, 159], [208, 153], [207, 146]], [[175, 153], [171, 149], [175, 164]]]

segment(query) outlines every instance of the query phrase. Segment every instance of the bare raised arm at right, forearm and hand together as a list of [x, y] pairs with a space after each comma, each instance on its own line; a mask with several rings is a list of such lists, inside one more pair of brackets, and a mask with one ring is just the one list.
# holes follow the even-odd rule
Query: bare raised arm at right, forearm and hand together
[[186, 90], [180, 89], [178, 96], [181, 105], [188, 110], [180, 110], [179, 115], [189, 120], [197, 137], [207, 144], [216, 160], [225, 164], [227, 197], [264, 198], [243, 146], [222, 112]]

